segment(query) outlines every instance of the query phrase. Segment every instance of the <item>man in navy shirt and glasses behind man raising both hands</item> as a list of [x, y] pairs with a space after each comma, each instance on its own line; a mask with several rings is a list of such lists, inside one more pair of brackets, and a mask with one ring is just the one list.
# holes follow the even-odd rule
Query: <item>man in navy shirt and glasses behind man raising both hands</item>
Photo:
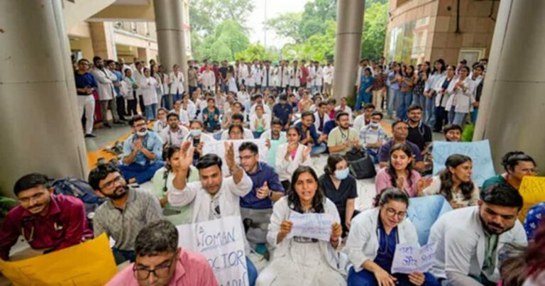
[[252, 179], [251, 192], [241, 197], [241, 216], [248, 243], [255, 249], [267, 242], [267, 228], [272, 214], [272, 203], [284, 196], [278, 174], [267, 163], [259, 162], [258, 145], [242, 143], [238, 148], [241, 166]]

